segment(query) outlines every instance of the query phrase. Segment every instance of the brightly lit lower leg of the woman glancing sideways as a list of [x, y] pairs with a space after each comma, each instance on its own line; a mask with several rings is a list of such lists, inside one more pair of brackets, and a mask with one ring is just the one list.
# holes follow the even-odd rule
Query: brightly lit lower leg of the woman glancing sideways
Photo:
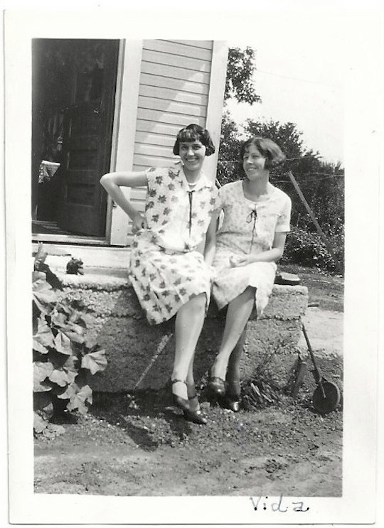
[[223, 339], [215, 361], [211, 367], [211, 375], [225, 379], [228, 361], [242, 331], [247, 324], [255, 304], [255, 288], [248, 286], [245, 291], [233, 299], [228, 305]]

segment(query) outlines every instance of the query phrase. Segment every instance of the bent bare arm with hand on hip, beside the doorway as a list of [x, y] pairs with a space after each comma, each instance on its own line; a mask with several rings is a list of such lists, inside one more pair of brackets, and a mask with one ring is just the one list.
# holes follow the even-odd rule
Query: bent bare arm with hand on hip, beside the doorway
[[145, 172], [114, 172], [102, 176], [100, 183], [110, 195], [112, 200], [122, 208], [133, 222], [133, 230], [139, 230], [146, 227], [144, 217], [137, 211], [133, 205], [125, 198], [121, 187], [139, 187], [146, 185]]

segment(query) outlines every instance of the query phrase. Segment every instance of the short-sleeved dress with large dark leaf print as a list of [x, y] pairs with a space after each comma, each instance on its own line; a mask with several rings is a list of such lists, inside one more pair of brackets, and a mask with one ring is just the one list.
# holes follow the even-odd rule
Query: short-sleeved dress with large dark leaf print
[[217, 208], [218, 190], [204, 173], [191, 188], [181, 163], [146, 171], [145, 218], [134, 236], [129, 279], [150, 324], [173, 317], [193, 296], [210, 300], [209, 267], [198, 246]]

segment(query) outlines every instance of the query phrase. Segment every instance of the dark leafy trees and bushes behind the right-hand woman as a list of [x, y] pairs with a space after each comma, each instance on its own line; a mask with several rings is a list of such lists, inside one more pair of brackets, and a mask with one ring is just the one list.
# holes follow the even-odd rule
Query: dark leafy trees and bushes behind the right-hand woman
[[[254, 104], [261, 102], [255, 92], [252, 75], [255, 72], [255, 52], [252, 48], [230, 48], [228, 53], [225, 97], [238, 102]], [[292, 235], [286, 254], [292, 262], [318, 265], [334, 269], [334, 262], [321, 244], [316, 228], [306, 209], [292, 187], [287, 171], [292, 171], [307, 202], [316, 216], [322, 230], [332, 238], [338, 258], [343, 261], [343, 223], [344, 223], [344, 171], [340, 164], [321, 160], [318, 151], [304, 148], [302, 131], [297, 125], [278, 121], [258, 122], [247, 119], [243, 124], [245, 133], [250, 136], [264, 136], [275, 141], [287, 156], [283, 166], [271, 171], [270, 180], [276, 183], [292, 198]], [[218, 181], [221, 185], [241, 178], [240, 146], [242, 139], [238, 124], [224, 105], [220, 150], [218, 156]]]

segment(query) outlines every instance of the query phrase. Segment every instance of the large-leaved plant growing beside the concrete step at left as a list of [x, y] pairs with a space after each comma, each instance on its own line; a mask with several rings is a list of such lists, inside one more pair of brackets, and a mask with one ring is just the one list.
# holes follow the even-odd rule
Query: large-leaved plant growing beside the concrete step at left
[[[33, 408], [87, 412], [90, 375], [105, 370], [105, 350], [88, 335], [93, 316], [60, 298], [60, 280], [36, 255], [33, 271]], [[44, 269], [44, 271], [41, 271]], [[80, 309], [79, 309], [80, 308]], [[36, 432], [43, 426], [36, 416]]]

